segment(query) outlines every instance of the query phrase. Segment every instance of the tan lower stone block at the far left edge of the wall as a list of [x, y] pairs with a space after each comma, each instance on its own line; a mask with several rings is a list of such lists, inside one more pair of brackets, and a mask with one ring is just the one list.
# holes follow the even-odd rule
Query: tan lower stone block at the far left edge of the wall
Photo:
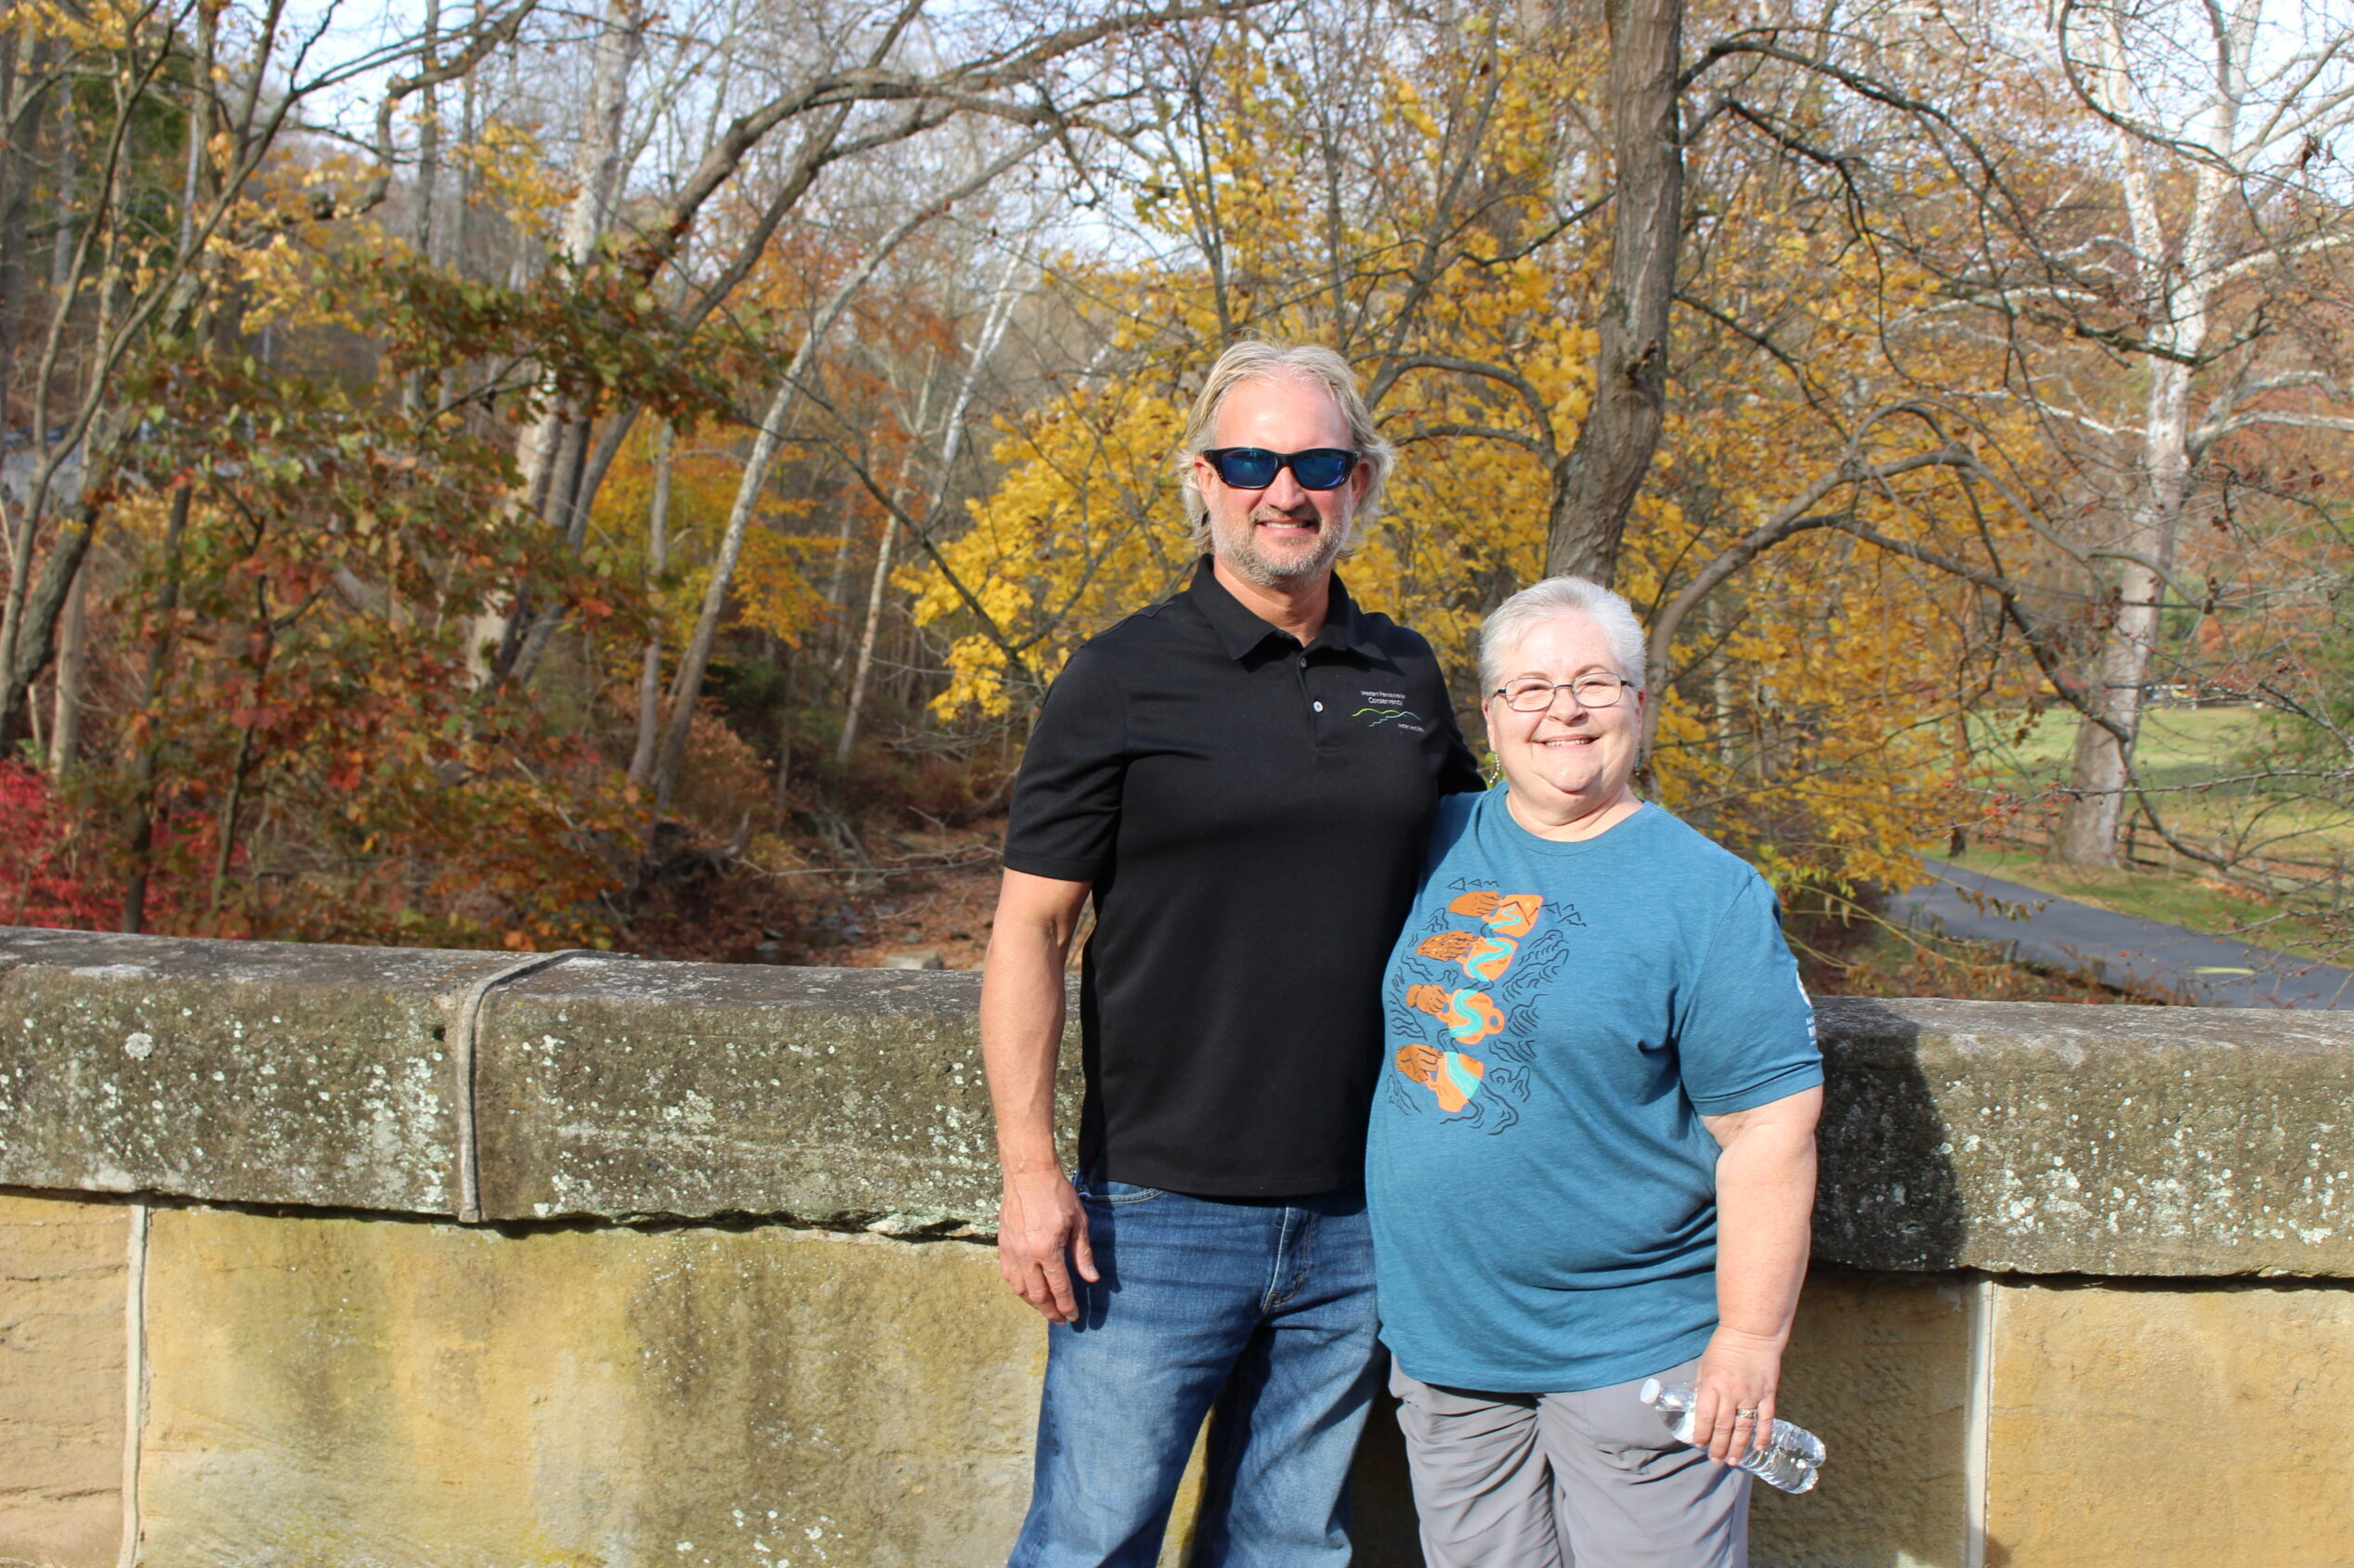
[[0, 1563], [113, 1568], [129, 1208], [0, 1192]]

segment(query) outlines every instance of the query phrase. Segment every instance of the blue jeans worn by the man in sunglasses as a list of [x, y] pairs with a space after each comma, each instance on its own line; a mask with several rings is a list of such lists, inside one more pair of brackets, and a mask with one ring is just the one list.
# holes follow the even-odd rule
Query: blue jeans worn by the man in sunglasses
[[1196, 1199], [1080, 1182], [1099, 1284], [1048, 1328], [1038, 1469], [1010, 1568], [1151, 1568], [1210, 1415], [1198, 1568], [1349, 1561], [1377, 1387], [1365, 1194]]

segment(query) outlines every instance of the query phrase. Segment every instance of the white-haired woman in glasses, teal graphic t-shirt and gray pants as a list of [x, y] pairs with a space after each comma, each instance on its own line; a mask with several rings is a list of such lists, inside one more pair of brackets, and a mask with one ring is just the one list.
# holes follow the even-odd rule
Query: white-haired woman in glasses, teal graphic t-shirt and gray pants
[[[1766, 882], [1636, 799], [1643, 630], [1549, 578], [1481, 632], [1504, 778], [1441, 804], [1365, 1154], [1434, 1568], [1737, 1568], [1806, 1276], [1822, 1058]], [[1697, 1380], [1667, 1436], [1645, 1378]]]

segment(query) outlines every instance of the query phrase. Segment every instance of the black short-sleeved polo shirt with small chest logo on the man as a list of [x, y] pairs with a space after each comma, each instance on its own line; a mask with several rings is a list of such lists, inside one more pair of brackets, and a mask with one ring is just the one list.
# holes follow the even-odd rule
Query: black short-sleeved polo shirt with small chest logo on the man
[[1095, 884], [1080, 1161], [1201, 1197], [1363, 1180], [1382, 966], [1441, 795], [1478, 790], [1431, 646], [1332, 583], [1309, 646], [1203, 559], [1080, 646], [1005, 865]]

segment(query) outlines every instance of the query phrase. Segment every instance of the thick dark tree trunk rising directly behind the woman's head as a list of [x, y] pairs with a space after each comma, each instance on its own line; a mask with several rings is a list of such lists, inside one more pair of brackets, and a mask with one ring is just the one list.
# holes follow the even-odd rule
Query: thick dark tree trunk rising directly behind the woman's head
[[1669, 306], [1683, 242], [1683, 143], [1676, 75], [1683, 0], [1605, 0], [1610, 24], [1610, 292], [1594, 353], [1594, 404], [1561, 461], [1547, 524], [1547, 574], [1608, 583], [1627, 512], [1660, 449], [1667, 411]]

